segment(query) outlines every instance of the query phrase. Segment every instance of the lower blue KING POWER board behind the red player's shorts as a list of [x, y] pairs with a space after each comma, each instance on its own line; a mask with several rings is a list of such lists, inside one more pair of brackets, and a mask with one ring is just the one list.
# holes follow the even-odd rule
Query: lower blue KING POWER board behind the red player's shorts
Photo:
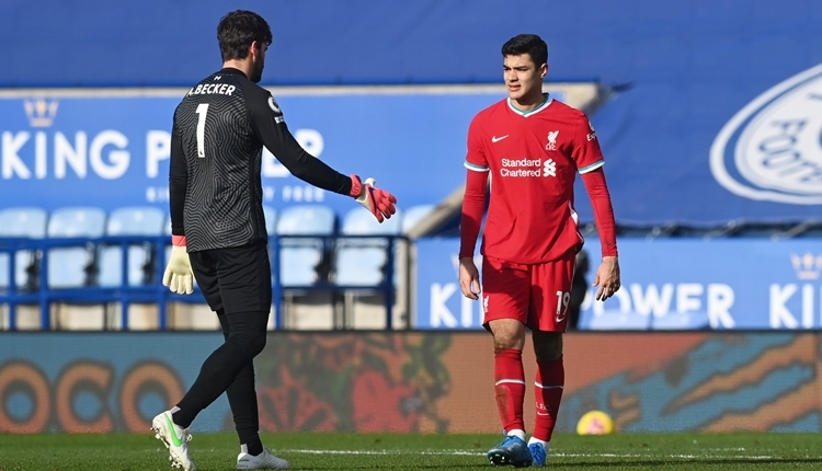
[[[580, 329], [820, 329], [822, 241], [768, 239], [623, 239], [623, 288], [605, 302], [589, 289]], [[600, 264], [596, 238], [585, 243]], [[418, 242], [420, 329], [481, 329], [478, 301], [457, 282], [457, 239]], [[478, 266], [479, 263], [478, 263]]]

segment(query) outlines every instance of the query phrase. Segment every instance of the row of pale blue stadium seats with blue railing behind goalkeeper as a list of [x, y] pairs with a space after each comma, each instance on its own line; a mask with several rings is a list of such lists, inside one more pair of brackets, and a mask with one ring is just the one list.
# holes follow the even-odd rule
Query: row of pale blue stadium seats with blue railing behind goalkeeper
[[[344, 222], [341, 220], [343, 223], [338, 232], [338, 216], [326, 205], [305, 204], [286, 209], [264, 206], [263, 209], [265, 228], [273, 240], [271, 249], [279, 248], [279, 285], [275, 286], [278, 297], [281, 288], [292, 292], [306, 288], [333, 291], [342, 288], [346, 290], [346, 297], [362, 296], [357, 291], [364, 289], [381, 291], [386, 288], [380, 286], [385, 280], [388, 262], [388, 239], [385, 236], [402, 233], [402, 222], [406, 219], [402, 211], [379, 223], [368, 211], [355, 206], [345, 215]], [[422, 218], [430, 214], [432, 207], [412, 209], [412, 218]], [[12, 309], [21, 302], [41, 302], [44, 329], [49, 329], [48, 307], [56, 301], [122, 303], [122, 325], [125, 329], [129, 303], [158, 302], [164, 307], [163, 300], [203, 302], [201, 297], [170, 295], [167, 289], [158, 286], [160, 280], [156, 276], [162, 271], [160, 265], [164, 265], [168, 260], [170, 246], [163, 250], [165, 248], [160, 245], [161, 249], [157, 252], [157, 243], [165, 240], [170, 232], [169, 216], [155, 206], [123, 207], [110, 214], [99, 207], [64, 207], [52, 214], [39, 208], [2, 210], [0, 239], [44, 239], [30, 242], [4, 241], [10, 242], [12, 248], [18, 243], [25, 244], [24, 249], [28, 251], [24, 254], [20, 250], [16, 255], [20, 261], [16, 266], [18, 285], [25, 284], [25, 268], [31, 261], [39, 259], [32, 257], [30, 253], [44, 254], [42, 263], [45, 282], [41, 287], [44, 292], [28, 295], [28, 298], [15, 295], [3, 302], [8, 302]], [[342, 236], [342, 239], [338, 239], [338, 236]], [[118, 237], [124, 239], [121, 241], [116, 239]], [[36, 249], [30, 249], [32, 246]], [[124, 250], [128, 262], [125, 282]], [[395, 261], [397, 260], [395, 252]], [[335, 267], [332, 266], [334, 261]], [[393, 265], [395, 274], [397, 265]], [[329, 283], [334, 268], [338, 279]], [[8, 253], [0, 253], [0, 269], [4, 269], [0, 273], [0, 282], [8, 284]], [[395, 280], [397, 279], [395, 275]], [[37, 287], [34, 286], [33, 289]], [[0, 297], [3, 296], [2, 291], [0, 285]], [[392, 298], [387, 296], [385, 299], [387, 312], [390, 312]], [[164, 328], [164, 308], [161, 311], [161, 325]], [[10, 325], [14, 325], [14, 322]]]

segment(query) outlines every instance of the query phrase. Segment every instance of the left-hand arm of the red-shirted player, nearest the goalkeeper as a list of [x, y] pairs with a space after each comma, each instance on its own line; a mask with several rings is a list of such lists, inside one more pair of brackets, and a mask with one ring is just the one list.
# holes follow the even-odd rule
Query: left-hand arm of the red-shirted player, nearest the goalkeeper
[[468, 130], [468, 154], [465, 166], [466, 185], [463, 197], [463, 215], [459, 223], [459, 287], [469, 299], [479, 299], [479, 271], [473, 263], [473, 250], [477, 246], [482, 215], [486, 212], [486, 194], [488, 192], [489, 165], [486, 160], [479, 129], [475, 123]]

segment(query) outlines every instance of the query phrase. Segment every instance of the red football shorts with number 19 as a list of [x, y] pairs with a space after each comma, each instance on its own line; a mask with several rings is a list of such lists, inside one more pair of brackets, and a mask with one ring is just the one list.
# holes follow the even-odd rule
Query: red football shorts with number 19
[[482, 325], [495, 319], [516, 319], [532, 331], [564, 332], [575, 254], [524, 265], [482, 257]]

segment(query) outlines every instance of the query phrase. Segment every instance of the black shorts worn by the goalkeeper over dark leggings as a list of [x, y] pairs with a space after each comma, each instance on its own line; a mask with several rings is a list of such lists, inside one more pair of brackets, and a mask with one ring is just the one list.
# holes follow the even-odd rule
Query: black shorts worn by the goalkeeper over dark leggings
[[266, 241], [190, 252], [192, 271], [213, 311], [271, 311], [271, 262]]

